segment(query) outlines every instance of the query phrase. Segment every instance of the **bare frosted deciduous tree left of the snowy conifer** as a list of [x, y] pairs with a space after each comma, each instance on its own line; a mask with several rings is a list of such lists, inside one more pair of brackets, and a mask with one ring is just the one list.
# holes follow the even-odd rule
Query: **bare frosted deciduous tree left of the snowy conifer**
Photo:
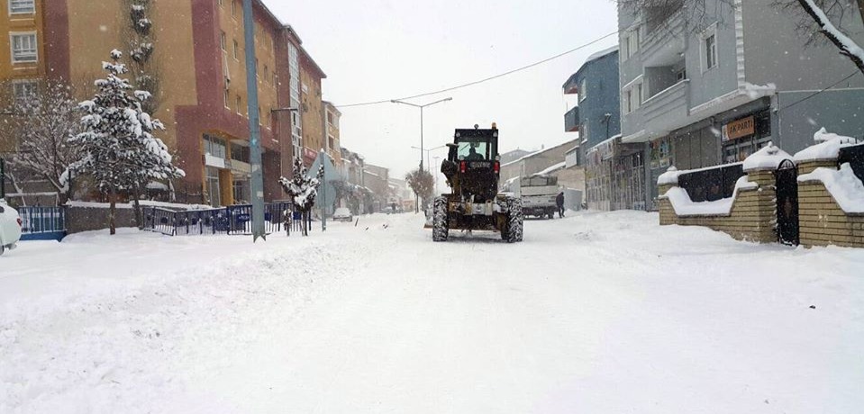
[[[3, 90], [13, 90], [11, 86]], [[4, 102], [2, 112], [13, 114], [0, 119], [0, 139], [15, 147], [7, 159], [9, 175], [14, 182], [21, 178], [48, 183], [59, 193], [60, 202], [65, 202], [73, 191], [69, 166], [80, 157], [78, 147], [69, 145], [69, 139], [81, 130], [81, 114], [71, 88], [61, 80], [45, 80]]]

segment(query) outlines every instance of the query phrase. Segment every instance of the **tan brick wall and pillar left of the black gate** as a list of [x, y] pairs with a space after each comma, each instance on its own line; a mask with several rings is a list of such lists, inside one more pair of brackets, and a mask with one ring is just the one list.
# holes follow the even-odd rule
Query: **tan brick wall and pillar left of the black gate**
[[[774, 174], [770, 170], [750, 171], [748, 180], [757, 188], [740, 189], [732, 210], [723, 215], [678, 215], [668, 198], [660, 197], [660, 225], [704, 226], [723, 231], [739, 240], [771, 243], [777, 241], [775, 231], [776, 209]], [[660, 185], [659, 193], [665, 194], [673, 185]]]

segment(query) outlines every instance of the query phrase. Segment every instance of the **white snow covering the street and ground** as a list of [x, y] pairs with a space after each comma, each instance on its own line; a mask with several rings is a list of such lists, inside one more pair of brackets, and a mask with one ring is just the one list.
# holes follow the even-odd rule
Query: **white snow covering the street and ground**
[[25, 243], [0, 258], [0, 412], [864, 405], [864, 251], [570, 216], [517, 245], [433, 244], [413, 214], [259, 245]]

